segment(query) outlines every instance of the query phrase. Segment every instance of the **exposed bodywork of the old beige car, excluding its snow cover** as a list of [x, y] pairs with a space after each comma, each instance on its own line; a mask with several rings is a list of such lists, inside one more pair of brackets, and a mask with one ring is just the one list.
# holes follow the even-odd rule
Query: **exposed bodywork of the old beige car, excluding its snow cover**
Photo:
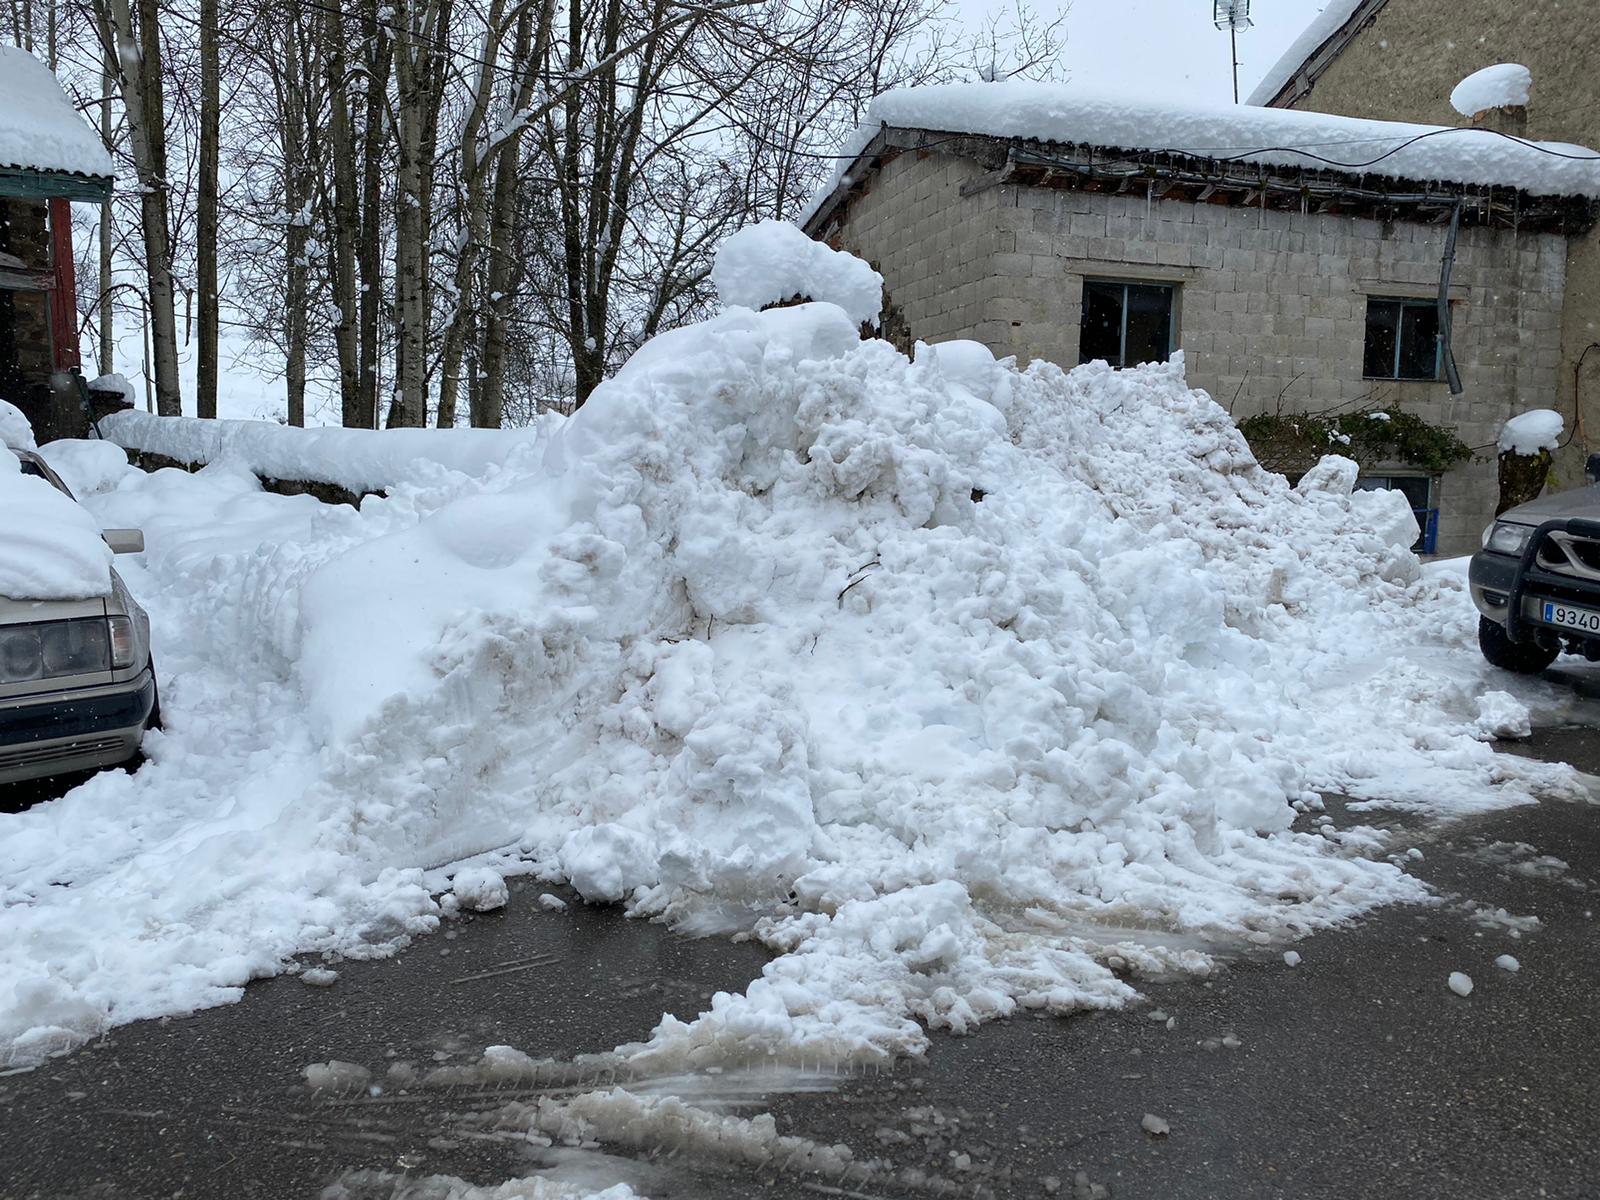
[[[22, 474], [56, 472], [27, 450]], [[117, 554], [138, 554], [138, 530], [106, 530]], [[160, 722], [150, 621], [110, 573], [110, 594], [91, 600], [0, 595], [0, 784], [128, 762]]]

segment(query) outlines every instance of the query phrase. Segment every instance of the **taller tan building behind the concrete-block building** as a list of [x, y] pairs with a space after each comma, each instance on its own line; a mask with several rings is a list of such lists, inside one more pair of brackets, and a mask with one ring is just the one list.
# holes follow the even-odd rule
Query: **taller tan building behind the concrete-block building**
[[[1533, 72], [1528, 104], [1475, 123], [1600, 146], [1600, 10], [1571, 0], [1333, 0], [1250, 102], [1462, 125], [1451, 91], [1498, 62]], [[1568, 243], [1562, 362], [1546, 406], [1573, 435], [1552, 486], [1581, 485], [1584, 458], [1600, 451], [1600, 230]]]

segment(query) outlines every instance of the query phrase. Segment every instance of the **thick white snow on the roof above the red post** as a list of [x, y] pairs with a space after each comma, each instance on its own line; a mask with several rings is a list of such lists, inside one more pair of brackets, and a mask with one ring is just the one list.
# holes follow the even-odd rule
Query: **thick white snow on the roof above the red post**
[[0, 46], [0, 170], [115, 174], [99, 134], [26, 50]]

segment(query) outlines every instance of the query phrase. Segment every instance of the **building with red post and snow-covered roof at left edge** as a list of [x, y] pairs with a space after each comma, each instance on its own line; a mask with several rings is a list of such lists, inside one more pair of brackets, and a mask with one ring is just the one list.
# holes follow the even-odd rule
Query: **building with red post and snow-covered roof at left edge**
[[78, 366], [72, 202], [110, 189], [110, 157], [56, 77], [0, 46], [0, 398], [42, 440], [83, 432], [77, 397], [53, 384]]

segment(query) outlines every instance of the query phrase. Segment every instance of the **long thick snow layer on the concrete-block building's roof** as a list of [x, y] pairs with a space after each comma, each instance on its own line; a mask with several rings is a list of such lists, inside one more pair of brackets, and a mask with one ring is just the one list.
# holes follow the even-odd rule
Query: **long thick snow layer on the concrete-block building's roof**
[[[1008, 80], [888, 91], [872, 102], [846, 155], [866, 149], [882, 126], [1600, 198], [1600, 154], [1584, 146], [1293, 109], [1173, 104], [1069, 83]], [[848, 171], [846, 158], [802, 224]]]

